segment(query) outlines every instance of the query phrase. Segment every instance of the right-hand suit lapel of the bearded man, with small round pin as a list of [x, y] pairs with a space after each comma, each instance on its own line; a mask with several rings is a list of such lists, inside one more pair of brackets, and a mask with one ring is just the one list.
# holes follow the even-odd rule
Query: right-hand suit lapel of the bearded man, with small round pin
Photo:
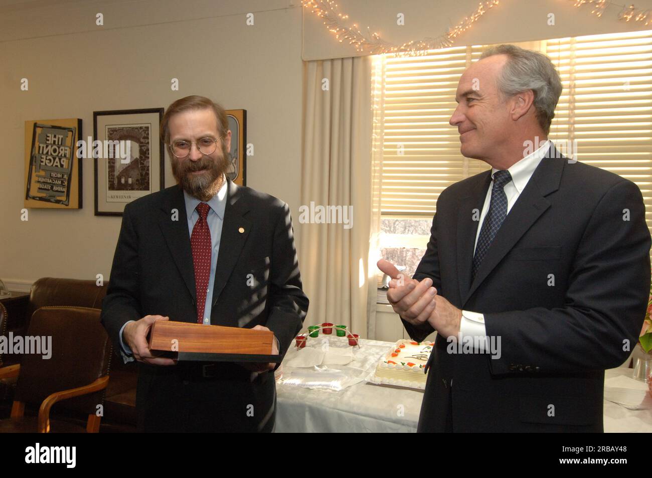
[[[228, 195], [224, 208], [224, 224], [222, 224], [222, 237], [220, 238], [220, 251], [218, 252], [215, 269], [215, 283], [213, 284], [213, 306], [217, 303], [220, 293], [224, 290], [233, 267], [240, 257], [244, 242], [251, 231], [252, 223], [244, 218], [249, 211], [243, 188], [238, 187], [230, 179], [228, 181]], [[244, 284], [243, 284], [244, 286]]]

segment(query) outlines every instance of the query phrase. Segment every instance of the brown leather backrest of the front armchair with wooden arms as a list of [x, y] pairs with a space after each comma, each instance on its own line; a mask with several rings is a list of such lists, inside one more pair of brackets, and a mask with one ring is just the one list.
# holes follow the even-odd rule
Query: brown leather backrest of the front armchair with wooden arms
[[[39, 308], [27, 336], [52, 337], [52, 356], [44, 359], [42, 353], [23, 354], [15, 400], [40, 406], [54, 392], [89, 385], [108, 374], [111, 345], [96, 308]], [[103, 398], [104, 390], [63, 400], [60, 406], [90, 414]]]

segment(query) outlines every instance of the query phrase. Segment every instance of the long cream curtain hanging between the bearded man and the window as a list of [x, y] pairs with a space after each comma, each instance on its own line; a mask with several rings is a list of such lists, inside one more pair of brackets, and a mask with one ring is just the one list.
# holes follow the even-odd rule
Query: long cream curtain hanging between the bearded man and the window
[[[371, 65], [370, 57], [304, 63], [304, 215], [298, 221], [299, 264], [310, 298], [305, 325], [343, 324], [363, 338], [368, 336], [372, 289], [374, 311], [376, 303], [376, 263], [371, 270], [369, 263], [374, 175]], [[342, 211], [352, 207], [349, 224], [310, 222], [311, 215], [305, 212], [319, 206]]]

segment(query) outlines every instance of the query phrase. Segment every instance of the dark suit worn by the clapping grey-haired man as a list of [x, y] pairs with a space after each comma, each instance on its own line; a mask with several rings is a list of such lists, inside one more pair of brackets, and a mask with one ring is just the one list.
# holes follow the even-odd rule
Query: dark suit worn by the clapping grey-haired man
[[[491, 172], [439, 196], [414, 277], [484, 313], [501, 356], [447, 353], [437, 336], [419, 431], [603, 431], [604, 370], [629, 357], [645, 316], [650, 234], [634, 183], [559, 156], [551, 146], [473, 282], [473, 209]], [[414, 340], [433, 331], [404, 325]]]

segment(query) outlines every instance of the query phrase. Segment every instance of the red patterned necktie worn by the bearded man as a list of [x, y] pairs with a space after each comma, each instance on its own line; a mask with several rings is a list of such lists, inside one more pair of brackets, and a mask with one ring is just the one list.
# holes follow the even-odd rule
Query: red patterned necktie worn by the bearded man
[[211, 278], [211, 230], [208, 227], [206, 218], [211, 207], [207, 203], [199, 203], [197, 212], [200, 218], [192, 228], [190, 235], [190, 246], [192, 246], [192, 263], [195, 269], [195, 291], [197, 293], [197, 323], [203, 323], [204, 306], [206, 305], [206, 293]]

